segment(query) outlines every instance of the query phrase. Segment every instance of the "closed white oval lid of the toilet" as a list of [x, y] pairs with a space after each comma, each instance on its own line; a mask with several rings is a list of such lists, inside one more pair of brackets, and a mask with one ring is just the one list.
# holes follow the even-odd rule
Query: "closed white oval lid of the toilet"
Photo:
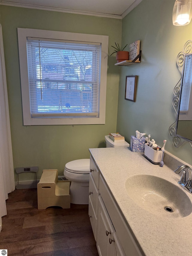
[[68, 162], [65, 169], [73, 173], [89, 173], [90, 172], [90, 159], [79, 159]]

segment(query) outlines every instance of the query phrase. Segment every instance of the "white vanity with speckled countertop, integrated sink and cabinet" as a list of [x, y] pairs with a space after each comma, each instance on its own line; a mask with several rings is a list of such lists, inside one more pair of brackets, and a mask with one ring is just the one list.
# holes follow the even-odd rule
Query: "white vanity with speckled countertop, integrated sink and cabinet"
[[99, 255], [189, 255], [192, 194], [175, 169], [129, 148], [89, 150], [89, 218]]

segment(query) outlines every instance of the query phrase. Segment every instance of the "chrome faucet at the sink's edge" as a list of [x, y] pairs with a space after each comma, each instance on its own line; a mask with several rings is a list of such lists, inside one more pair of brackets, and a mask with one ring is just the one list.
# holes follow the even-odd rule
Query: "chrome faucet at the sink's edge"
[[[186, 181], [186, 171], [184, 169], [188, 170], [189, 177]], [[191, 182], [192, 182], [192, 170], [188, 165], [182, 165], [179, 166], [176, 170], [174, 170], [175, 173], [180, 173], [183, 171], [181, 179], [178, 181], [179, 185], [182, 185], [184, 189], [192, 193], [192, 187], [191, 187]]]

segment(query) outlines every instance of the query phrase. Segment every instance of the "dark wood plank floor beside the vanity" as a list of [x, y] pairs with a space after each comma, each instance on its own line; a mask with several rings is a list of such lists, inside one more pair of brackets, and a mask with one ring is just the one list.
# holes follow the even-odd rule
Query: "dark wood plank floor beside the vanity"
[[6, 200], [0, 249], [8, 256], [98, 256], [88, 205], [38, 210], [37, 189], [20, 189]]

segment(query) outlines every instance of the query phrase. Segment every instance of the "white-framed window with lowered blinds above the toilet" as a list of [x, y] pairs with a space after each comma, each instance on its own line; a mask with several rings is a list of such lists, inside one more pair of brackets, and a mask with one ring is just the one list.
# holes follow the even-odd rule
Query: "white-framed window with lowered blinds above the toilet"
[[108, 36], [19, 28], [18, 41], [24, 125], [105, 123]]

